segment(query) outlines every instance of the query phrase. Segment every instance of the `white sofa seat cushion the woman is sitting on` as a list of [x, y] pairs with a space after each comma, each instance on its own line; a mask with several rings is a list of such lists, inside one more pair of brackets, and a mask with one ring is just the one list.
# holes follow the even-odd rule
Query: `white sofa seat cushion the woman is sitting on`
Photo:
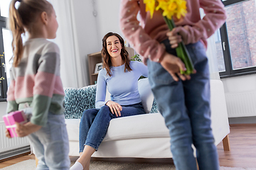
[[[146, 121], [145, 121], [146, 120]], [[80, 119], [66, 119], [69, 140], [78, 141]], [[160, 113], [132, 115], [110, 121], [104, 142], [151, 137], [169, 137]]]

